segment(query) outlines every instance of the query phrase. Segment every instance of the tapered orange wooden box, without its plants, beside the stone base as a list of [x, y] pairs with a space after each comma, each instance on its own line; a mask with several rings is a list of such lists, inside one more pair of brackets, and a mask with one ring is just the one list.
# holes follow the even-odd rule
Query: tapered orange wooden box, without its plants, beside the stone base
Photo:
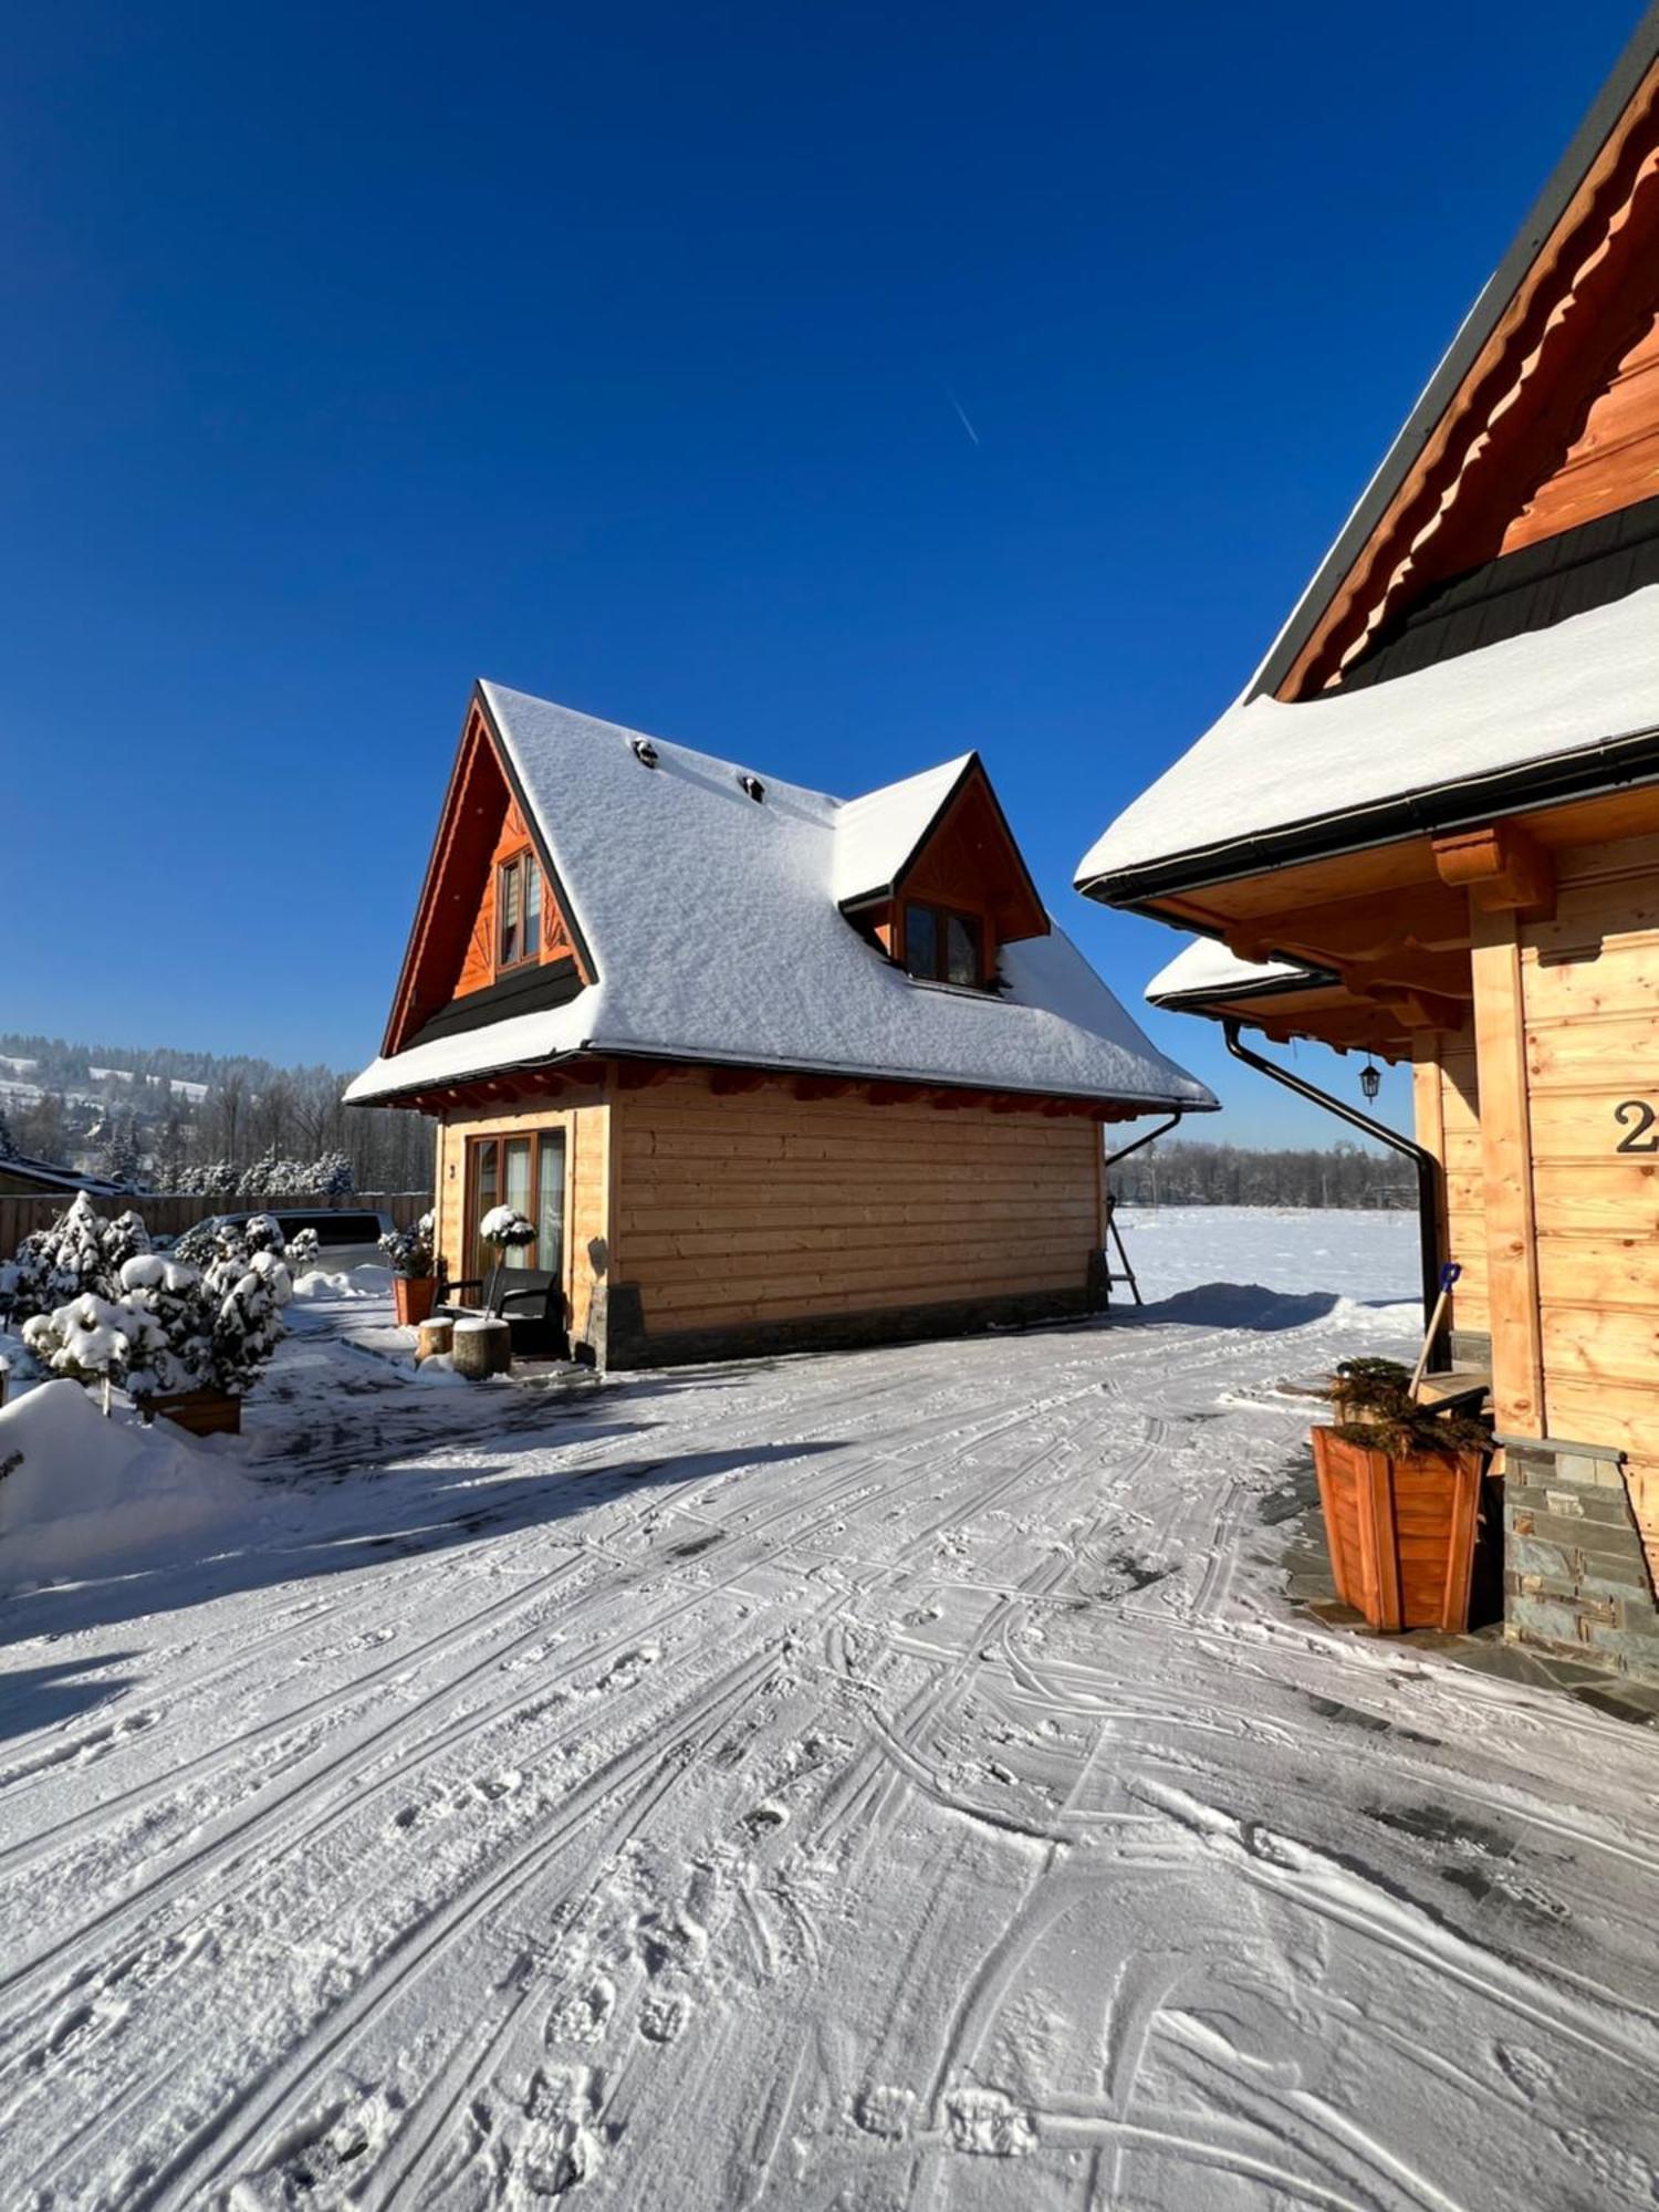
[[1469, 1626], [1482, 1464], [1478, 1451], [1394, 1460], [1314, 1429], [1336, 1588], [1371, 1628]]

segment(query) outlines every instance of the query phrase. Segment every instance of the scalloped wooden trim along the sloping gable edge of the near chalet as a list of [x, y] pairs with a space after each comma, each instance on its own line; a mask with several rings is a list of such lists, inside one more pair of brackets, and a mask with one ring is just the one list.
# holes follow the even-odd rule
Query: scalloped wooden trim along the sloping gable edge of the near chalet
[[[1480, 482], [1491, 480], [1500, 453], [1486, 453], [1482, 440], [1500, 403], [1522, 374], [1531, 376], [1531, 356], [1553, 336], [1548, 323], [1564, 292], [1571, 296], [1579, 281], [1593, 276], [1597, 243], [1630, 230], [1630, 215], [1624, 221], [1619, 215], [1626, 206], [1635, 212], [1637, 188], [1644, 184], [1637, 173], [1652, 142], [1657, 102], [1659, 0], [1652, 0], [1498, 272], [1256, 670], [1248, 697], [1272, 692], [1296, 699], [1327, 684], [1387, 611], [1398, 573], [1425, 529], [1449, 500], [1462, 495], [1464, 469], [1473, 465]], [[1637, 230], [1648, 230], [1646, 210]], [[1604, 259], [1624, 261], [1630, 250], [1637, 250], [1635, 237], [1626, 237], [1619, 254]], [[1566, 316], [1566, 323], [1573, 321]], [[1577, 327], [1582, 321], [1577, 316]], [[1635, 336], [1632, 330], [1630, 343]], [[1590, 398], [1586, 394], [1586, 407]], [[1511, 440], [1520, 427], [1522, 422], [1511, 422], [1498, 440], [1504, 460], [1513, 460]], [[1551, 425], [1553, 438], [1555, 431], [1557, 425]], [[1559, 451], [1575, 434], [1559, 440]], [[1524, 495], [1533, 489], [1535, 484], [1526, 484]]]

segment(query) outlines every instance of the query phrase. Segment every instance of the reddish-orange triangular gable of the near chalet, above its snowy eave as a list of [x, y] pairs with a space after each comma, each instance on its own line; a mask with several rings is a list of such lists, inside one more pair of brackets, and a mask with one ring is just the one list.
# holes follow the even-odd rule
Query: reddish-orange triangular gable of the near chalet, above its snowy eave
[[1659, 491], [1659, 4], [1256, 672], [1307, 699], [1433, 584]]

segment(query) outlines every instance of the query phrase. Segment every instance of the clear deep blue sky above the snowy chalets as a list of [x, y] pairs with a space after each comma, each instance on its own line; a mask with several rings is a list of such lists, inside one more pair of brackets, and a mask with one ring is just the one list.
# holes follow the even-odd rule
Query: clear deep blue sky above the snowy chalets
[[[0, 1026], [369, 1057], [476, 675], [838, 792], [978, 745], [1137, 1002], [1077, 856], [1635, 15], [22, 11]], [[1334, 1133], [1148, 1026], [1214, 1135]]]

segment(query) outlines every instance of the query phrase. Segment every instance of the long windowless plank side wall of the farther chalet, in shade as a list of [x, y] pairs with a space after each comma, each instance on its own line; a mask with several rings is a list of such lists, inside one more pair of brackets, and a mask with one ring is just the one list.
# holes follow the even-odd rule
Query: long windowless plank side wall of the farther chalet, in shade
[[697, 1077], [613, 1106], [617, 1274], [646, 1329], [1082, 1290], [1102, 1133], [1084, 1119]]

